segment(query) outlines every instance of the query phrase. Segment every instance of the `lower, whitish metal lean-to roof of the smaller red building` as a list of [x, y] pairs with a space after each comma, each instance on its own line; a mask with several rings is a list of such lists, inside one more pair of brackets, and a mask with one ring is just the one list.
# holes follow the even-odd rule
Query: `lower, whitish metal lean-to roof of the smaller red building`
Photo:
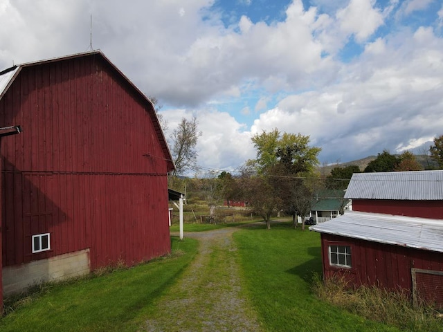
[[443, 252], [443, 221], [438, 219], [350, 211], [309, 230]]

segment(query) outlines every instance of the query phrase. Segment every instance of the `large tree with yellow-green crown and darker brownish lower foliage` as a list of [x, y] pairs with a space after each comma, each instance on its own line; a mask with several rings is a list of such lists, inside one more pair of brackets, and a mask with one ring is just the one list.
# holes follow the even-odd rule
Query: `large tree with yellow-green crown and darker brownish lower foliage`
[[[248, 202], [255, 212], [266, 221], [270, 228], [271, 212], [287, 210], [295, 216], [309, 212], [311, 192], [299, 176], [311, 174], [318, 165], [319, 147], [309, 146], [309, 136], [293, 133], [280, 133], [278, 129], [263, 131], [252, 138], [257, 158], [248, 160], [249, 181]], [[251, 169], [255, 167], [255, 173]], [[303, 226], [304, 228], [304, 226]]]

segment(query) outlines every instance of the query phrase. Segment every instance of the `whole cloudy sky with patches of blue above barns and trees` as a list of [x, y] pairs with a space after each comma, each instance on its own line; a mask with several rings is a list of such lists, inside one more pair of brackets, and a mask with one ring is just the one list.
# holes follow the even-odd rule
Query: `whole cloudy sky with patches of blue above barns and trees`
[[0, 0], [0, 19], [0, 71], [92, 45], [159, 100], [166, 137], [197, 116], [201, 172], [274, 128], [329, 164], [443, 134], [441, 0]]

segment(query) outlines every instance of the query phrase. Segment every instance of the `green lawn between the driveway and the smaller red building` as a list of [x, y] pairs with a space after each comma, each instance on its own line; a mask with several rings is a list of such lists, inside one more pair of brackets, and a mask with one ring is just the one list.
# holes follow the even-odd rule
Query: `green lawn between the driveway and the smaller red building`
[[321, 273], [320, 235], [290, 223], [234, 233], [253, 304], [268, 331], [399, 331], [336, 308], [310, 291]]

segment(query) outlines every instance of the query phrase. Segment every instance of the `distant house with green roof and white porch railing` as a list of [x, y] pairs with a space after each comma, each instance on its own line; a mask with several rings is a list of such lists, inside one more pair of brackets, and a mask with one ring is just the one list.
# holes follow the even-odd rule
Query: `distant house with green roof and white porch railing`
[[352, 210], [350, 199], [344, 198], [344, 190], [321, 190], [315, 194], [311, 203], [309, 219], [312, 217], [316, 223], [324, 223], [336, 218], [346, 210]]

